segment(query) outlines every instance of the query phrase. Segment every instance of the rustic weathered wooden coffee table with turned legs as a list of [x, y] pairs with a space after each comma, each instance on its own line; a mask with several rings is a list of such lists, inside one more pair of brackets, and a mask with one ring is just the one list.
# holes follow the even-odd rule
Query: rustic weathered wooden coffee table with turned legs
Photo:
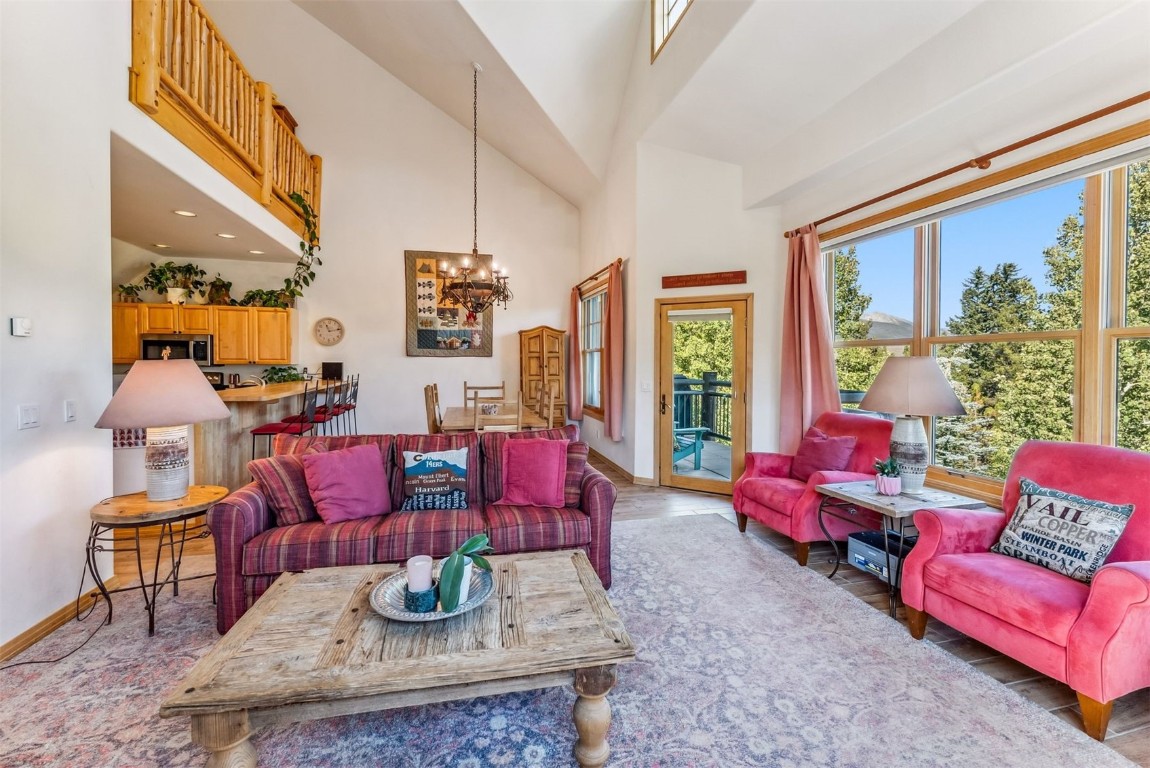
[[434, 622], [384, 619], [368, 601], [397, 565], [284, 574], [160, 707], [191, 715], [208, 766], [253, 768], [252, 732], [275, 723], [574, 684], [575, 758], [610, 753], [615, 665], [635, 646], [583, 552], [490, 558], [494, 589]]

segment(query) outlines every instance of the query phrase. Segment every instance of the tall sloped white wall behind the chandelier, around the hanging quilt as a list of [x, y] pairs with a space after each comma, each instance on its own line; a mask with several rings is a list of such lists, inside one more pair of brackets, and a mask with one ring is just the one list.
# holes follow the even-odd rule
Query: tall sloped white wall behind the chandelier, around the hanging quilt
[[[423, 431], [430, 382], [445, 406], [462, 402], [465, 379], [518, 386], [518, 331], [567, 327], [578, 210], [481, 143], [480, 251], [511, 270], [515, 299], [494, 310], [492, 358], [407, 358], [404, 251], [470, 251], [470, 126], [291, 2], [206, 5], [253, 76], [291, 109], [304, 145], [323, 156], [323, 266], [297, 307], [300, 360], [342, 360], [361, 375], [360, 431]], [[462, 68], [459, 87], [470, 85]], [[480, 120], [482, 94], [481, 82]], [[347, 329], [335, 347], [312, 340], [312, 324], [327, 315]]]

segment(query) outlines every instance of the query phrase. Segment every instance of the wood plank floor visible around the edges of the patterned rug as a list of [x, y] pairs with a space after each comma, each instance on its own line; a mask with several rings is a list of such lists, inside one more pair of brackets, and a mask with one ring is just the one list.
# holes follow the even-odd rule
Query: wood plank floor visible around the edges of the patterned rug
[[[735, 510], [731, 508], [728, 497], [678, 491], [667, 487], [634, 485], [610, 468], [600, 467], [600, 469], [619, 487], [619, 499], [615, 502], [615, 520], [649, 520], [652, 517], [674, 517], [678, 515], [718, 514], [730, 521], [731, 525], [735, 525]], [[753, 521], [747, 524], [746, 533], [777, 547], [787, 554], [792, 554], [789, 538], [775, 533]], [[145, 548], [148, 550], [151, 547], [146, 546]], [[185, 563], [190, 559], [210, 559], [213, 556], [212, 540], [199, 539], [189, 543], [185, 551]], [[831, 558], [830, 545], [814, 544], [811, 546], [808, 567], [816, 571], [829, 574]], [[798, 568], [798, 563], [795, 567]], [[151, 563], [145, 562], [145, 568], [151, 568]], [[125, 578], [131, 579], [132, 576], [130, 575], [135, 575], [136, 573], [135, 558], [132, 555], [117, 554], [116, 573], [123, 574]], [[838, 569], [831, 583], [858, 597], [876, 610], [887, 613], [887, 587], [877, 578], [856, 568], [843, 566]], [[160, 599], [162, 600], [164, 597], [161, 596]], [[905, 624], [902, 606], [898, 609], [898, 620]], [[1003, 685], [1030, 699], [1056, 716], [1066, 720], [1075, 728], [1082, 728], [1078, 700], [1074, 692], [1065, 684], [1040, 675], [1029, 667], [1020, 665], [1013, 659], [1009, 659], [986, 645], [972, 640], [961, 632], [934, 619], [930, 620], [927, 627], [927, 639], [966, 661], [975, 669], [990, 675]], [[1132, 760], [1135, 765], [1150, 767], [1150, 690], [1130, 693], [1114, 702], [1114, 711], [1110, 719], [1110, 729], [1106, 732], [1105, 744], [1116, 752], [1125, 755], [1128, 760]]]

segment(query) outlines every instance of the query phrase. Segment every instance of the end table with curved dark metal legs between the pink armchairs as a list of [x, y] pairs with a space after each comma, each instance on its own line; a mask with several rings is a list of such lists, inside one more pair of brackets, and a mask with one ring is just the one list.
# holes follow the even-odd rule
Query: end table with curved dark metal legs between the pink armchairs
[[921, 491], [907, 491], [898, 496], [883, 496], [874, 490], [874, 481], [826, 483], [816, 485], [814, 490], [822, 494], [822, 500], [819, 501], [819, 528], [822, 529], [827, 540], [830, 542], [830, 546], [835, 548], [835, 567], [831, 569], [828, 578], [834, 578], [835, 574], [838, 573], [842, 558], [838, 554], [838, 542], [835, 542], [827, 530], [823, 515], [853, 523], [861, 530], [867, 530], [867, 527], [856, 516], [858, 509], [868, 509], [882, 517], [882, 550], [887, 558], [887, 587], [890, 600], [890, 616], [892, 619], [897, 610], [898, 590], [903, 583], [903, 562], [899, 560], [898, 567], [892, 567], [889, 535], [894, 533], [898, 537], [899, 550], [902, 550], [906, 536], [907, 521], [919, 509], [946, 507], [980, 509], [986, 506], [977, 499], [929, 487], [925, 487]]

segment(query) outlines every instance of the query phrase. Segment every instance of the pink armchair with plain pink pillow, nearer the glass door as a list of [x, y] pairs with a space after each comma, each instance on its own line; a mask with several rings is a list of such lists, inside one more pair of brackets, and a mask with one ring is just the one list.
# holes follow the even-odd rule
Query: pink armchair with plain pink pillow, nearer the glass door
[[[795, 456], [784, 453], [747, 453], [746, 469], [735, 482], [734, 506], [738, 530], [746, 531], [746, 520], [756, 520], [767, 528], [795, 540], [795, 559], [806, 565], [811, 542], [827, 539], [819, 528], [819, 501], [822, 496], [814, 490], [825, 483], [850, 483], [874, 477], [874, 460], [890, 453], [891, 423], [874, 416], [851, 413], [825, 413], [814, 428], [829, 437], [853, 436], [854, 451], [845, 468], [816, 471], [806, 481], [791, 476]], [[860, 525], [879, 528], [877, 516], [862, 517]], [[826, 517], [823, 521], [835, 540], [843, 540], [859, 528], [850, 522]]]

